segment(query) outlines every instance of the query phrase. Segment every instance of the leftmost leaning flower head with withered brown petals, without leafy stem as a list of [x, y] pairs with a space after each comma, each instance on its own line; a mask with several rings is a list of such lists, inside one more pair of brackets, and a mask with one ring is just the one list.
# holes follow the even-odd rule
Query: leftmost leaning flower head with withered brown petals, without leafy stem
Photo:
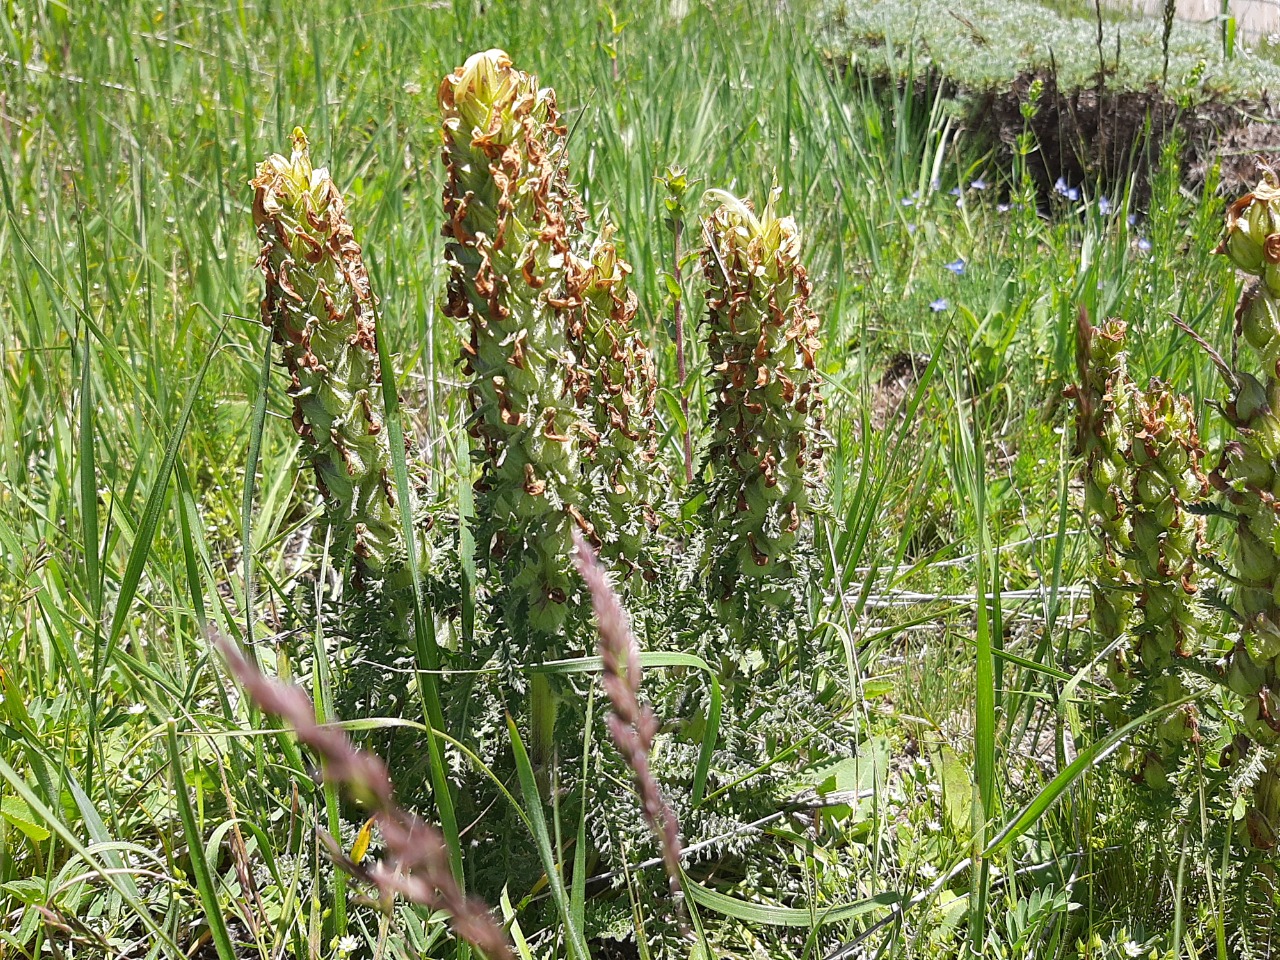
[[[293, 131], [292, 156], [264, 160], [251, 186], [266, 279], [262, 323], [292, 378], [293, 426], [335, 540], [349, 544], [366, 579], [381, 579], [402, 568], [406, 547], [381, 415], [378, 301], [360, 244], [329, 172], [311, 166], [301, 129]], [[412, 484], [410, 495], [416, 512]], [[425, 568], [425, 535], [413, 549]]]

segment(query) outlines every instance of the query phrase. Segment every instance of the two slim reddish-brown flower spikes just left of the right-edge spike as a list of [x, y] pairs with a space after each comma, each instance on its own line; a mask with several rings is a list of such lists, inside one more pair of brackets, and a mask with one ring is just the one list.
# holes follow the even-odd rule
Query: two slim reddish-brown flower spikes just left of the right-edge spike
[[[1196, 558], [1204, 527], [1188, 507], [1201, 504], [1208, 490], [1189, 402], [1158, 380], [1139, 389], [1125, 347], [1123, 323], [1093, 326], [1082, 311], [1080, 384], [1070, 393], [1079, 407], [1084, 507], [1098, 544], [1091, 571], [1093, 632], [1106, 644], [1101, 654], [1115, 687], [1106, 714], [1116, 724], [1187, 696], [1175, 666], [1199, 644]], [[1196, 709], [1184, 704], [1138, 739], [1125, 765], [1162, 788], [1181, 746], [1197, 739]]]

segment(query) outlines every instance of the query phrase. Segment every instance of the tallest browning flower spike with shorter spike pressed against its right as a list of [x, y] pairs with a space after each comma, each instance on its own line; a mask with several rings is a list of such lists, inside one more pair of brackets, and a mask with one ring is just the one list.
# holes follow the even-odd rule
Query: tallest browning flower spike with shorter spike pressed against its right
[[570, 184], [554, 92], [490, 50], [439, 100], [447, 312], [466, 325], [480, 442], [476, 544], [513, 652], [540, 650], [581, 604], [575, 529], [620, 577], [652, 570], [657, 378], [632, 329], [631, 268]]

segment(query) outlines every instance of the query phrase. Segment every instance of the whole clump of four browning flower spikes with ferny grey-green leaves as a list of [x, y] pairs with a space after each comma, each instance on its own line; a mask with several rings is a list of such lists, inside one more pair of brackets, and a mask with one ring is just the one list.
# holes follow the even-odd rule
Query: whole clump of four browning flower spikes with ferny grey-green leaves
[[[566, 771], [579, 764], [554, 765], [557, 755], [582, 749], [580, 728], [557, 739], [557, 727], [585, 717], [558, 708], [572, 687], [567, 681], [553, 685], [545, 664], [594, 644], [590, 594], [575, 570], [575, 540], [600, 561], [588, 577], [596, 600], [607, 577], [658, 643], [675, 646], [691, 637], [703, 654], [719, 659], [718, 682], [730, 692], [723, 713], [719, 700], [714, 710], [705, 708], [708, 726], [721, 716], [750, 716], [763, 731], [756, 739], [722, 736], [700, 745], [716, 748], [716, 769], [730, 785], [753, 780], [756, 791], [780, 790], [787, 780], [785, 764], [762, 753], [772, 751], [774, 742], [809, 745], [795, 750], [792, 764], [847, 754], [838, 726], [844, 701], [832, 692], [838, 685], [824, 680], [826, 660], [813, 649], [817, 634], [788, 632], [800, 626], [796, 598], [810, 572], [805, 554], [822, 499], [826, 445], [818, 317], [809, 305], [800, 232], [791, 218], [776, 212], [776, 193], [756, 214], [745, 201], [712, 192], [717, 206], [705, 224], [707, 312], [700, 324], [712, 365], [709, 436], [701, 444], [699, 477], [690, 489], [671, 490], [669, 477], [685, 472], [681, 438], [671, 431], [678, 466], [669, 470], [659, 454], [657, 367], [635, 329], [631, 266], [614, 228], [603, 219], [593, 221], [572, 186], [554, 92], [517, 70], [500, 50], [490, 50], [444, 78], [439, 108], [444, 303], [445, 314], [458, 321], [465, 422], [475, 442], [471, 462], [463, 465], [465, 480], [474, 481], [475, 509], [462, 522], [474, 534], [479, 572], [474, 643], [445, 652], [443, 666], [460, 667], [463, 680], [445, 676], [440, 682], [444, 698], [454, 698], [444, 713], [470, 714], [468, 728], [480, 737], [476, 751], [500, 765], [508, 751], [485, 737], [506, 735], [503, 710], [521, 712], [509, 694], [527, 687], [517, 727], [521, 736], [530, 735], [543, 797], [553, 796], [549, 772], [561, 769], [561, 792], [591, 805], [586, 819], [612, 818], [612, 826], [602, 823], [593, 856], [625, 855], [627, 845], [643, 842], [631, 836], [639, 820], [630, 814], [640, 808], [628, 806], [612, 787], [568, 790], [564, 778], [573, 774]], [[314, 466], [333, 540], [355, 572], [356, 589], [344, 595], [343, 612], [356, 641], [332, 648], [351, 654], [337, 672], [338, 703], [344, 709], [376, 703], [398, 710], [407, 705], [407, 682], [389, 708], [387, 698], [375, 700], [365, 687], [390, 684], [378, 678], [379, 671], [413, 676], [419, 664], [410, 588], [425, 588], [429, 616], [448, 621], [452, 604], [439, 602], [448, 591], [438, 586], [449, 570], [465, 568], [468, 558], [458, 553], [465, 538], [448, 538], [453, 548], [444, 548], [443, 539], [433, 547], [430, 525], [422, 520], [429, 489], [421, 472], [410, 484], [413, 502], [407, 504], [417, 522], [404, 529], [393, 481], [398, 452], [390, 447], [383, 412], [383, 378], [394, 371], [379, 364], [378, 301], [342, 195], [325, 170], [312, 168], [301, 131], [292, 156], [269, 157], [252, 186], [259, 266], [266, 280], [264, 323], [289, 371], [293, 424]], [[385, 344], [381, 356], [389, 356]], [[677, 521], [671, 507], [682, 497], [687, 499]], [[700, 562], [694, 577], [686, 576], [690, 562]], [[412, 584], [411, 568], [424, 584]], [[707, 628], [708, 612], [721, 620], [721, 631]], [[787, 692], [765, 714], [750, 691], [730, 684], [724, 673], [726, 664], [731, 669], [746, 659], [749, 645], [760, 645], [755, 635], [763, 625], [769, 625], [773, 653], [792, 643], [791, 653], [810, 671], [801, 675], [792, 662], [778, 673]], [[736, 652], [721, 649], [726, 640]], [[608, 657], [604, 666], [617, 672]], [[632, 669], [639, 660], [627, 667], [628, 676]], [[675, 712], [687, 710], [690, 695], [709, 695], [698, 682], [677, 673], [662, 691], [677, 728], [681, 718]], [[817, 724], [818, 717], [827, 719]], [[659, 733], [655, 723], [646, 724], [645, 753]], [[708, 769], [700, 758], [710, 754], [691, 746], [655, 756], [653, 776], [641, 778], [641, 806], [650, 820], [655, 777], [687, 781], [696, 762], [699, 788], [705, 790]], [[630, 754], [635, 751], [628, 753], [632, 762], [643, 759]], [[396, 769], [411, 777], [412, 758], [397, 758]], [[760, 787], [762, 780], [771, 786]], [[442, 788], [439, 782], [433, 787]], [[460, 797], [460, 809], [474, 808], [472, 837], [479, 842], [489, 829], [480, 826], [485, 810], [498, 799], [484, 795], [484, 783], [467, 788], [476, 794], [475, 803]], [[745, 791], [726, 799], [714, 815], [696, 804], [685, 809], [692, 829], [712, 837], [713, 831], [723, 833], [726, 819], [741, 815], [748, 823], [759, 815], [751, 796]], [[769, 803], [781, 801], [769, 794]], [[490, 832], [506, 837], [507, 827]], [[675, 849], [671, 840], [664, 844]], [[719, 840], [708, 842], [708, 850], [721, 849]], [[508, 852], [524, 856], [521, 850]], [[668, 865], [675, 868], [673, 861]], [[477, 882], [483, 884], [483, 870]], [[672, 936], [682, 934], [673, 928]]]

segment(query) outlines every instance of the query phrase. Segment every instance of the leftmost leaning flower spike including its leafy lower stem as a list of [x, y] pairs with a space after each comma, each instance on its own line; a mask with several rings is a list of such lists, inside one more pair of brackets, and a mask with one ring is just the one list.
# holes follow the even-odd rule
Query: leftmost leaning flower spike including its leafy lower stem
[[[343, 608], [347, 639], [338, 689], [344, 712], [401, 712], [412, 701], [412, 572], [438, 572], [425, 468], [406, 442], [407, 531], [384, 420], [378, 298], [364, 252], [329, 172], [315, 168], [306, 134], [293, 131], [289, 157], [264, 160], [253, 187], [253, 224], [265, 280], [262, 323], [280, 346], [293, 398], [293, 428], [314, 468], [335, 558], [349, 566], [355, 599]], [[411, 556], [412, 554], [412, 556]], [[310, 607], [310, 596], [301, 598]], [[401, 740], [406, 740], [401, 737]], [[420, 755], [412, 744], [389, 745]]]

